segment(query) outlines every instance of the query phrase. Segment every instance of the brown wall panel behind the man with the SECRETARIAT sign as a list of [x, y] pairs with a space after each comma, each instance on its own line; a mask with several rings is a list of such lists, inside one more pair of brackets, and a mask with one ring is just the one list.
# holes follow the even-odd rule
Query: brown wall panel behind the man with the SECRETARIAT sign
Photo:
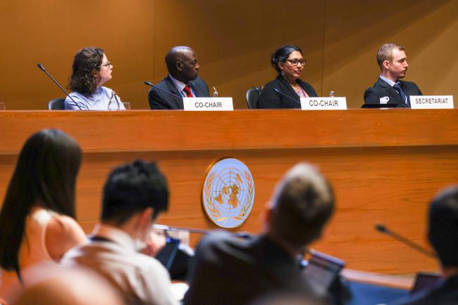
[[406, 47], [406, 80], [426, 95], [458, 96], [457, 13], [457, 0], [327, 0], [323, 94], [334, 90], [359, 107], [380, 73], [378, 48], [393, 42]]

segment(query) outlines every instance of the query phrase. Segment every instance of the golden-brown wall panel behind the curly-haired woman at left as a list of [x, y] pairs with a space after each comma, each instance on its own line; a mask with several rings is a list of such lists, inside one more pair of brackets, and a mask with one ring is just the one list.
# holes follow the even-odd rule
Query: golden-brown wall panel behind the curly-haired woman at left
[[[114, 65], [106, 85], [147, 108], [154, 44], [154, 1], [1, 1], [0, 102], [12, 109], [47, 109], [63, 93], [38, 69], [67, 86], [76, 51], [104, 48]], [[135, 102], [133, 102], [135, 101]]]

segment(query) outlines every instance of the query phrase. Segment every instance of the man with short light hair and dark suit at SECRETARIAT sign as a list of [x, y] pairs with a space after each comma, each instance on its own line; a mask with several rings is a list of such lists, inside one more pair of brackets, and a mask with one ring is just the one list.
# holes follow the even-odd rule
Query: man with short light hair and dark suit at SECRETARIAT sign
[[397, 108], [410, 108], [410, 96], [423, 95], [414, 82], [400, 79], [406, 76], [409, 65], [404, 47], [384, 44], [377, 53], [380, 67], [378, 81], [364, 92], [366, 104], [396, 104]]

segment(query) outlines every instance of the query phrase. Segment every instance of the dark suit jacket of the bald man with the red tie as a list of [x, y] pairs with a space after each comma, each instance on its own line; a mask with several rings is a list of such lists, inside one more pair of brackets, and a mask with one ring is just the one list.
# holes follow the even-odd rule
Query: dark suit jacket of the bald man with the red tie
[[[175, 85], [173, 84], [170, 77], [162, 79], [157, 86], [161, 89], [164, 89], [168, 92], [175, 94], [176, 96], [181, 96], [181, 93], [178, 92]], [[190, 86], [194, 94], [199, 98], [208, 98], [210, 96], [209, 86], [204, 82], [204, 79], [197, 77], [190, 82]], [[156, 88], [149, 89], [148, 93], [148, 102], [151, 109], [183, 109], [183, 100], [182, 98], [177, 98], [163, 92]]]

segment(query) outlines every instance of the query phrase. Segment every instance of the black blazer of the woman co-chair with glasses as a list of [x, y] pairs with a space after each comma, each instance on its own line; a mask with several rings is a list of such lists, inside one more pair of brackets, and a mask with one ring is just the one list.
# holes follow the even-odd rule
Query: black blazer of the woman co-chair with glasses
[[[303, 82], [300, 79], [297, 79], [297, 83], [302, 87], [302, 89], [304, 89], [305, 92], [307, 92], [310, 97], [318, 96], [311, 84]], [[278, 89], [279, 91], [285, 93], [287, 96], [294, 98], [299, 103], [291, 100], [291, 98], [281, 96], [280, 94], [273, 91], [273, 89]], [[287, 82], [286, 79], [284, 79], [281, 75], [278, 75], [276, 79], [273, 79], [272, 82], [268, 82], [266, 86], [264, 86], [264, 89], [262, 89], [258, 99], [258, 108], [301, 108], [301, 104], [300, 98], [297, 95], [295, 89], [292, 89], [292, 86]]]

